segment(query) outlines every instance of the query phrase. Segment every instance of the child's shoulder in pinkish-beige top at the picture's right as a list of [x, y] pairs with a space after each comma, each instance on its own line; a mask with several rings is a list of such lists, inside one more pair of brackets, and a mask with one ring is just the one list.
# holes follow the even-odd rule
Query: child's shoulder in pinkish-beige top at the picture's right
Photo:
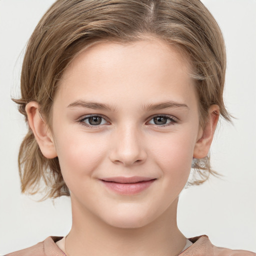
[[256, 253], [247, 250], [232, 250], [214, 246], [207, 235], [189, 238], [193, 243], [180, 256], [256, 256]]

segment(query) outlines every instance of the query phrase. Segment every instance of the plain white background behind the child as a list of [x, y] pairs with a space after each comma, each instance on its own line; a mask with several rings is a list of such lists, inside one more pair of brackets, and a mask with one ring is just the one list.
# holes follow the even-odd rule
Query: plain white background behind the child
[[[31, 246], [71, 226], [69, 198], [35, 202], [20, 194], [17, 154], [26, 133], [11, 96], [19, 96], [24, 47], [53, 0], [0, 0], [0, 254]], [[227, 47], [225, 103], [237, 118], [222, 121], [211, 147], [224, 175], [182, 191], [178, 225], [187, 236], [256, 251], [256, 0], [203, 0]]]

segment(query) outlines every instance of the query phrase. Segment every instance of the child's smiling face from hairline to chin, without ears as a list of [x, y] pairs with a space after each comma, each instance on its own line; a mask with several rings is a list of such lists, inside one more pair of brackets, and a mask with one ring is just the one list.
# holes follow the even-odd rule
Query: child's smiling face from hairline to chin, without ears
[[[52, 132], [73, 213], [138, 227], [175, 211], [202, 135], [189, 71], [158, 39], [99, 43], [71, 62], [54, 99]], [[151, 181], [102, 181], [134, 176]]]

